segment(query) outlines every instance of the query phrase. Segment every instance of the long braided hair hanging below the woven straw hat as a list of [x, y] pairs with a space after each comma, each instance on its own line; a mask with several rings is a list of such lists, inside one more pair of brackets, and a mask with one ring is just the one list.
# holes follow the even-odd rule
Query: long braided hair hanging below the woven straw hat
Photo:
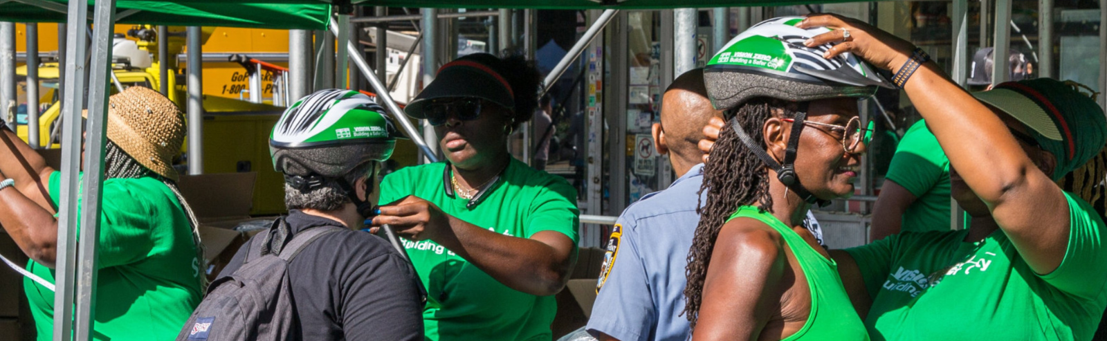
[[[162, 177], [156, 173], [146, 169], [139, 164], [134, 157], [127, 155], [123, 152], [123, 148], [115, 145], [111, 140], [107, 141], [104, 147], [104, 178], [139, 178], [139, 177], [153, 177], [169, 187], [173, 194], [177, 197], [177, 202], [180, 203], [180, 207], [185, 208], [185, 215], [188, 216], [188, 224], [193, 228], [193, 242], [196, 245], [196, 259], [200, 262], [199, 269], [206, 269], [207, 265], [204, 259], [204, 244], [200, 242], [200, 231], [199, 221], [196, 220], [196, 214], [193, 213], [192, 206], [188, 206], [188, 202], [185, 200], [185, 196], [180, 195], [180, 189], [177, 188], [177, 184], [170, 179]], [[207, 290], [207, 276], [201, 271], [200, 273], [200, 292]]]

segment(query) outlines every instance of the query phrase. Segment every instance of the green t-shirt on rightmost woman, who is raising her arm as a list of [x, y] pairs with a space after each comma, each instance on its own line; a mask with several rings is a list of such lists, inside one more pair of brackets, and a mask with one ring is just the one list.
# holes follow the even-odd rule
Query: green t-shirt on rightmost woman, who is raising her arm
[[1003, 230], [907, 232], [847, 249], [865, 279], [873, 340], [1090, 340], [1107, 308], [1107, 230], [1066, 193], [1065, 259], [1036, 275]]

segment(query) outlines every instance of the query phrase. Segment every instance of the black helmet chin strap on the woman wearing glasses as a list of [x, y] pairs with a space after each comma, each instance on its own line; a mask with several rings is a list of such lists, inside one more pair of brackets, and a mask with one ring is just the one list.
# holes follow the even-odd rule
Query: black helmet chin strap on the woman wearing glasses
[[796, 117], [793, 118], [792, 134], [788, 136], [788, 146], [784, 152], [783, 164], [773, 159], [773, 157], [761, 147], [761, 144], [756, 143], [753, 137], [749, 137], [749, 134], [746, 134], [746, 132], [742, 130], [742, 125], [738, 124], [737, 116], [731, 117], [730, 125], [731, 128], [734, 130], [734, 133], [738, 134], [738, 138], [742, 140], [742, 144], [749, 148], [749, 151], [753, 151], [754, 155], [757, 155], [757, 158], [761, 158], [766, 166], [776, 170], [776, 178], [780, 180], [782, 184], [787, 186], [788, 189], [795, 192], [799, 198], [804, 199], [804, 202], [821, 207], [830, 204], [830, 202], [819, 199], [807, 190], [807, 188], [804, 188], [804, 185], [799, 183], [799, 176], [796, 175], [796, 148], [799, 146], [799, 134], [803, 133], [804, 121], [807, 118], [807, 103], [799, 103], [799, 111], [796, 112]]

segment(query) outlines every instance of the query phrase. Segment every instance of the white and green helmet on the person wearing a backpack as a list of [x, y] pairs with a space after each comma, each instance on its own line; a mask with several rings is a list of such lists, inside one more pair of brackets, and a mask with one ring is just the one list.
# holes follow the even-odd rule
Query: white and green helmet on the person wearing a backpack
[[385, 161], [396, 130], [384, 108], [349, 90], [320, 90], [284, 111], [269, 136], [273, 168], [289, 176], [342, 177]]

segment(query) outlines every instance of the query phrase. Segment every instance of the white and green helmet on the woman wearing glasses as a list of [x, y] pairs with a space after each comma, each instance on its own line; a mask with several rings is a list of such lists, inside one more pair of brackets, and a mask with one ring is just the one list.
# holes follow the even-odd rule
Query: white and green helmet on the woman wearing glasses
[[793, 102], [866, 97], [877, 86], [893, 87], [851, 53], [823, 58], [832, 44], [804, 45], [807, 39], [831, 30], [797, 28], [803, 20], [782, 17], [763, 21], [707, 61], [704, 84], [715, 108], [732, 108], [762, 96]]

